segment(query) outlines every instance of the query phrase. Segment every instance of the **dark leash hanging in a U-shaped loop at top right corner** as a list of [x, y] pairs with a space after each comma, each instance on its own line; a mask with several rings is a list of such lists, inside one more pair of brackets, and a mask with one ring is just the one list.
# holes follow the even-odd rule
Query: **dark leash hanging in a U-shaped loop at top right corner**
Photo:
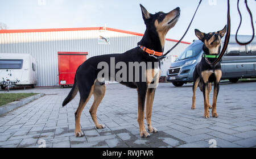
[[253, 41], [253, 39], [254, 39], [253, 15], [251, 14], [251, 10], [249, 9], [249, 7], [248, 7], [248, 5], [247, 5], [247, 0], [245, 0], [245, 5], [246, 5], [247, 11], [248, 11], [249, 14], [250, 14], [250, 18], [251, 18], [251, 27], [253, 28], [253, 35], [251, 36], [251, 40], [250, 40], [250, 41], [247, 41], [247, 42], [245, 42], [245, 43], [242, 43], [242, 42], [240, 42], [240, 41], [237, 39], [237, 34], [238, 34], [238, 31], [240, 30], [240, 26], [241, 26], [241, 23], [242, 23], [242, 15], [241, 15], [241, 12], [240, 12], [240, 9], [239, 9], [239, 0], [238, 0], [238, 1], [237, 1], [237, 10], [238, 10], [238, 13], [239, 13], [239, 15], [240, 15], [240, 24], [239, 24], [239, 26], [238, 26], [238, 28], [237, 28], [237, 32], [236, 32], [236, 41], [237, 41], [237, 43], [240, 44], [240, 45], [247, 45], [247, 44], [250, 44], [251, 41]]

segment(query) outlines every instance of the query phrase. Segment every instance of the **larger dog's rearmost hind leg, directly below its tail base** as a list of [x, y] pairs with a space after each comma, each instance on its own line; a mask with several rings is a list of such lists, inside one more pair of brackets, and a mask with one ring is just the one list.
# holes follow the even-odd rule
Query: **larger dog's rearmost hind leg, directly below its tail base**
[[94, 83], [90, 81], [87, 81], [85, 85], [82, 85], [82, 83], [79, 85], [80, 102], [79, 102], [79, 107], [75, 112], [75, 122], [76, 122], [75, 136], [76, 137], [84, 136], [84, 133], [81, 131], [81, 127], [80, 127], [80, 117], [82, 114], [82, 110], [84, 109], [86, 103], [89, 101], [90, 97], [92, 96], [93, 89], [94, 89]]

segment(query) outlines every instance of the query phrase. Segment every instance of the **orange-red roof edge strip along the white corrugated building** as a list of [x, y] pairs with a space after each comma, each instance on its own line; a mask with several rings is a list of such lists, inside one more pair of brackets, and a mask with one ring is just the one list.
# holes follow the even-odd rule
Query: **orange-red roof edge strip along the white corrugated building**
[[[0, 30], [0, 34], [23, 33], [23, 32], [83, 31], [83, 30], [105, 30], [105, 27], [49, 28], [49, 29], [28, 29], [28, 30]], [[108, 31], [115, 31], [115, 32], [122, 32], [122, 33], [125, 33], [125, 34], [131, 34], [131, 35], [137, 35], [137, 36], [143, 36], [144, 35], [144, 34], [141, 34], [141, 33], [138, 33], [138, 32], [118, 30], [118, 29], [108, 28], [108, 27], [106, 27], [106, 30], [108, 30]], [[179, 40], [174, 40], [174, 39], [169, 39], [169, 38], [166, 38], [166, 40], [174, 41], [174, 42], [179, 41]], [[191, 44], [191, 43], [186, 42], [186, 41], [181, 41], [180, 43]]]

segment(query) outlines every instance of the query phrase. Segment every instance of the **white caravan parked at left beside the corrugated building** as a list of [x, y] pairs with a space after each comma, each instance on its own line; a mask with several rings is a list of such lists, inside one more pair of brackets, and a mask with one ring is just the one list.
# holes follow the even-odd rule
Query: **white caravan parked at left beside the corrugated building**
[[27, 53], [0, 53], [1, 89], [36, 85], [36, 60]]

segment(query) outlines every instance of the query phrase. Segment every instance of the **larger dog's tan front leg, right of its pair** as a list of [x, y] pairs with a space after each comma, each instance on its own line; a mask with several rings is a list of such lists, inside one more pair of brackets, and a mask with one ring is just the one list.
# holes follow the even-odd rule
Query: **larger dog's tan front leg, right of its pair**
[[147, 120], [147, 129], [149, 132], [158, 132], [158, 130], [152, 127], [152, 124], [151, 124], [151, 114], [152, 114], [154, 97], [155, 97], [155, 88], [149, 88], [147, 90], [147, 97], [146, 97], [146, 120]]

